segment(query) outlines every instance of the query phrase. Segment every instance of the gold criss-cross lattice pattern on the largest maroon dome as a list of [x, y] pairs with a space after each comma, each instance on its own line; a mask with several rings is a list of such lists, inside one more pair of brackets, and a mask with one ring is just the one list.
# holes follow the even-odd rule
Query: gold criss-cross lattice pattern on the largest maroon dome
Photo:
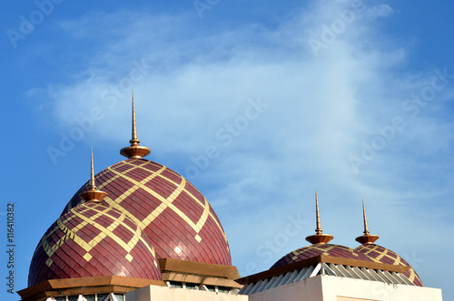
[[[145, 160], [143, 162], [143, 164], [141, 164], [141, 165], [131, 164], [127, 160], [124, 160], [121, 163], [123, 163], [124, 165], [128, 165], [130, 167], [130, 169], [120, 172], [120, 171], [114, 170], [113, 167], [109, 167], [107, 170], [113, 172], [115, 174], [114, 177], [112, 177], [109, 180], [104, 181], [104, 183], [100, 184], [98, 186], [98, 188], [103, 189], [104, 186], [106, 186], [107, 184], [109, 184], [110, 182], [112, 182], [118, 178], [122, 178], [124, 180], [130, 181], [131, 183], [133, 183], [133, 187], [126, 190], [120, 197], [118, 197], [116, 199], [111, 199], [109, 196], [107, 196], [104, 199], [104, 201], [107, 202], [110, 206], [124, 212], [128, 216], [128, 218], [133, 219], [133, 221], [137, 225], [139, 225], [140, 228], [147, 228], [153, 222], [153, 220], [155, 218], [157, 218], [163, 212], [164, 209], [172, 209], [173, 212], [175, 212], [180, 218], [182, 218], [195, 231], [195, 233], [197, 233], [194, 237], [197, 240], [197, 242], [202, 241], [202, 238], [199, 236], [199, 232], [202, 230], [207, 219], [210, 217], [210, 218], [212, 218], [212, 220], [214, 221], [216, 226], [221, 231], [222, 237], [225, 239], [225, 242], [227, 242], [227, 237], [226, 237], [224, 231], [222, 230], [221, 224], [218, 222], [217, 218], [214, 218], [214, 216], [212, 215], [212, 212], [210, 211], [210, 204], [208, 203], [208, 201], [205, 198], [203, 198], [203, 202], [202, 202], [201, 200], [197, 199], [194, 195], [192, 195], [191, 191], [189, 191], [188, 189], [185, 188], [187, 181], [183, 177], [179, 176], [178, 174], [174, 173], [172, 170], [169, 170], [164, 166], [161, 167], [161, 169], [157, 170], [157, 171], [148, 170], [148, 169], [143, 168], [144, 165], [153, 164], [151, 161], [148, 161], [148, 160]], [[154, 166], [157, 166], [157, 165], [154, 165]], [[141, 181], [133, 180], [132, 178], [126, 176], [126, 173], [128, 173], [132, 170], [137, 170], [137, 169], [144, 170], [144, 171], [150, 173], [150, 175]], [[173, 172], [173, 174], [175, 174], [176, 176], [181, 177], [182, 182], [176, 183], [173, 180], [164, 177], [162, 174], [164, 170]], [[173, 193], [168, 198], [164, 198], [159, 193], [157, 193], [156, 191], [154, 191], [153, 189], [150, 189], [149, 187], [147, 187], [145, 185], [150, 180], [153, 180], [156, 177], [160, 177], [163, 180], [166, 180], [166, 181], [172, 183], [176, 187], [176, 189], [173, 191]], [[158, 206], [156, 209], [154, 209], [153, 212], [150, 212], [150, 214], [146, 218], [143, 218], [143, 220], [140, 220], [140, 219], [134, 217], [131, 212], [124, 209], [121, 205], [122, 201], [124, 199], [126, 199], [127, 197], [129, 197], [131, 194], [133, 194], [133, 192], [137, 189], [145, 190], [150, 195], [152, 195], [154, 198], [159, 199], [162, 202], [160, 206]], [[173, 200], [175, 200], [182, 193], [183, 190], [191, 199], [193, 199], [203, 209], [202, 216], [201, 216], [201, 218], [199, 218], [197, 223], [194, 223], [191, 220], [191, 218], [189, 218], [186, 214], [183, 213], [183, 211], [181, 209], [178, 209], [175, 205], [173, 205]]]

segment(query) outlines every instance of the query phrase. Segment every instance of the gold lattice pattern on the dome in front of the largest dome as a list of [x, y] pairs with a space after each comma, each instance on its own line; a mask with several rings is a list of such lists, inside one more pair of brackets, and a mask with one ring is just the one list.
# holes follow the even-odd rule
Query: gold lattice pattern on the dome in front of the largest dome
[[[119, 218], [111, 214], [112, 209], [105, 207], [104, 205], [96, 205], [96, 206], [85, 206], [84, 204], [78, 206], [75, 209], [71, 209], [72, 214], [66, 214], [64, 217], [60, 217], [57, 219], [57, 227], [54, 227], [47, 235], [45, 235], [40, 242], [40, 245], [38, 248], [43, 247], [45, 253], [49, 257], [47, 261], [45, 262], [48, 267], [52, 264], [53, 260], [51, 259], [52, 255], [54, 252], [60, 248], [64, 242], [67, 239], [72, 239], [74, 242], [80, 246], [81, 248], [84, 249], [86, 252], [84, 254], [84, 259], [86, 261], [90, 261], [92, 258], [92, 255], [90, 255], [90, 251], [96, 247], [98, 243], [103, 241], [104, 238], [109, 237], [112, 238], [118, 246], [123, 248], [127, 254], [125, 258], [131, 262], [133, 260], [133, 256], [130, 254], [130, 252], [133, 250], [133, 248], [137, 245], [139, 241], [143, 242], [143, 245], [148, 249], [148, 251], [153, 255], [154, 258], [154, 266], [157, 267], [157, 261], [155, 259], [155, 253], [153, 246], [150, 246], [149, 243], [144, 240], [143, 235], [142, 235], [142, 229], [137, 227], [137, 228], [131, 228], [128, 224], [124, 222], [124, 218], [126, 218], [125, 214], [121, 212], [121, 215]], [[92, 217], [87, 217], [85, 214], [89, 211], [95, 212], [95, 214]], [[96, 218], [99, 218], [101, 216], [112, 218], [114, 222], [105, 228], [104, 226], [96, 223], [94, 220]], [[66, 224], [68, 224], [71, 220], [74, 218], [81, 218], [82, 222], [75, 226], [74, 228], [68, 228], [66, 227]], [[100, 230], [100, 233], [92, 238], [90, 241], [86, 242], [83, 238], [81, 238], [78, 235], [78, 232], [82, 230], [85, 226], [91, 225], [94, 228], [97, 228]], [[130, 241], [125, 242], [123, 241], [122, 238], [119, 238], [114, 234], [114, 230], [118, 228], [119, 226], [123, 226], [123, 228], [127, 229], [133, 234], [133, 238], [130, 239]], [[47, 238], [49, 238], [51, 235], [54, 234], [55, 231], [58, 229], [61, 229], [64, 232], [64, 237], [60, 238], [53, 246], [49, 245]]]

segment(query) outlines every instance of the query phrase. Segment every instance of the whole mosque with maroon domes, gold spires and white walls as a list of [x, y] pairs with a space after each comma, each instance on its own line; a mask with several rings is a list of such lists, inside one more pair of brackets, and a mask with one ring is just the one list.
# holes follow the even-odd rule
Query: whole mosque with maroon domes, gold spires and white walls
[[[24, 301], [439, 301], [402, 257], [376, 245], [363, 202], [357, 248], [329, 244], [321, 229], [310, 246], [270, 269], [241, 277], [216, 213], [192, 184], [143, 157], [133, 135], [126, 157], [94, 174], [44, 233], [30, 264]], [[253, 214], [253, 213], [251, 213]]]

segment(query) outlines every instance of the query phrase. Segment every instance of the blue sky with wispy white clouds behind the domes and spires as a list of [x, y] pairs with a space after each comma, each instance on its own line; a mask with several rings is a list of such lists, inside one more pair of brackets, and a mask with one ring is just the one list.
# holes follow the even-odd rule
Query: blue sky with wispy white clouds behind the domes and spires
[[88, 180], [90, 146], [97, 171], [123, 160], [134, 89], [147, 159], [211, 202], [242, 276], [307, 245], [318, 189], [332, 243], [358, 246], [364, 198], [377, 243], [454, 299], [440, 271], [454, 267], [454, 4], [41, 3], [0, 12], [15, 290]]

